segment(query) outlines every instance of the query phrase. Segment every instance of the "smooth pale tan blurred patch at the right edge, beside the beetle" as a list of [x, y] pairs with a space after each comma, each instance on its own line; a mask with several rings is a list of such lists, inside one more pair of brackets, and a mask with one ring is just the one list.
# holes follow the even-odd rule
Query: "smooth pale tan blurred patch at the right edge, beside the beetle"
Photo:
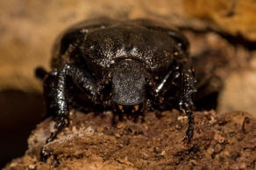
[[[219, 97], [218, 109], [222, 112], [240, 110], [256, 116], [256, 74], [255, 70], [234, 71], [224, 82]], [[231, 100], [233, 99], [233, 100]]]

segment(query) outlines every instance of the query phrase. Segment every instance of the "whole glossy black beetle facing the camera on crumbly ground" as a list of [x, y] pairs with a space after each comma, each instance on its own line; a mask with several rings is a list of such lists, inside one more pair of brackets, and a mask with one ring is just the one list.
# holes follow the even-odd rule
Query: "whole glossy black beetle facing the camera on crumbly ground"
[[68, 124], [74, 105], [136, 117], [177, 104], [188, 116], [185, 139], [191, 139], [196, 80], [188, 45], [173, 27], [145, 19], [99, 18], [68, 29], [54, 45], [53, 70], [36, 71], [44, 79], [47, 112], [56, 118], [46, 143]]

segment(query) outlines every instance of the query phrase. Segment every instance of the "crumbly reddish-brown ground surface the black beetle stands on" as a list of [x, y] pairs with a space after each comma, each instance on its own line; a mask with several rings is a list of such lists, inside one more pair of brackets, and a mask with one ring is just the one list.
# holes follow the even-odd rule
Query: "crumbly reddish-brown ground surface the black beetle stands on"
[[46, 119], [28, 139], [22, 158], [4, 169], [255, 169], [256, 119], [246, 112], [194, 112], [195, 135], [182, 142], [187, 117], [176, 110], [148, 112], [112, 126], [111, 112], [71, 112], [71, 121], [44, 150], [53, 131]]

